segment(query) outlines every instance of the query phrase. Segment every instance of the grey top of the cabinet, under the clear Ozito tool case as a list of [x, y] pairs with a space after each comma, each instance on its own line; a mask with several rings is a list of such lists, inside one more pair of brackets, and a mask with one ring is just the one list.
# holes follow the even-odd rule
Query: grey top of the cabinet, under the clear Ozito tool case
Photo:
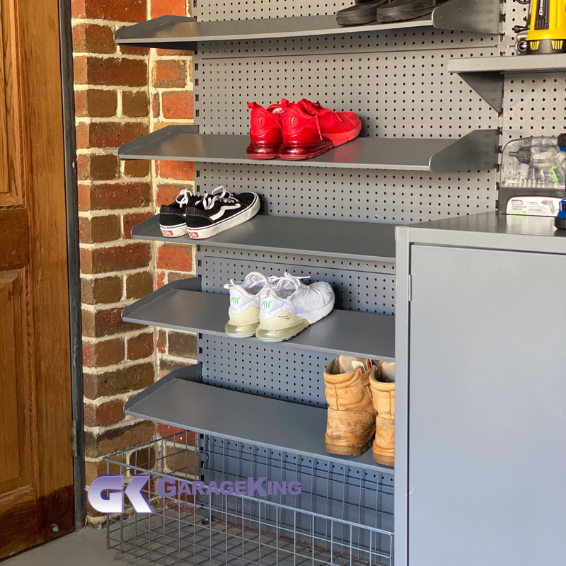
[[409, 226], [398, 226], [398, 241], [444, 246], [566, 253], [566, 231], [545, 216], [511, 216], [482, 212]]

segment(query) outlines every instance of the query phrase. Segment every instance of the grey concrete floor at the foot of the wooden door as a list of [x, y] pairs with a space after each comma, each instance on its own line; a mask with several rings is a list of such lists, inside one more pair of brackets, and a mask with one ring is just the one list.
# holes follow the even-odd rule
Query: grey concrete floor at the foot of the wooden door
[[0, 560], [1, 566], [148, 566], [150, 563], [106, 550], [105, 529], [89, 528]]

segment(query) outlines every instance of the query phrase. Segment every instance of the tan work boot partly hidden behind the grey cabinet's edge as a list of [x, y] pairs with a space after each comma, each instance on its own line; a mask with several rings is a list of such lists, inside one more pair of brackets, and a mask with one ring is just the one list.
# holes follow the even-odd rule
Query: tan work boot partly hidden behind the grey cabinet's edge
[[376, 417], [374, 460], [393, 466], [395, 463], [395, 362], [379, 362], [370, 375], [371, 395]]

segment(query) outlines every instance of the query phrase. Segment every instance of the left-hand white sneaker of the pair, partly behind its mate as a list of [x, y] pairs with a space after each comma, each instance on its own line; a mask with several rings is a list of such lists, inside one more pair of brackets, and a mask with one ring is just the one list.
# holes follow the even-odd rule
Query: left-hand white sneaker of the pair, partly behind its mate
[[250, 337], [260, 323], [260, 293], [269, 286], [269, 279], [262, 273], [251, 272], [244, 281], [224, 285], [230, 289], [230, 319], [224, 330], [229, 336]]

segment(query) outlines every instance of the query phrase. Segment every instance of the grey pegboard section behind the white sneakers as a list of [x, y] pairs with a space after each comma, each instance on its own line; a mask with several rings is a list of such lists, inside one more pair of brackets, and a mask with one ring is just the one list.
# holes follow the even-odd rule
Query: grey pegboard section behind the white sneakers
[[391, 273], [372, 273], [337, 269], [330, 265], [293, 265], [243, 258], [215, 258], [198, 255], [199, 275], [204, 291], [226, 293], [224, 285], [230, 279], [243, 280], [248, 273], [258, 271], [266, 277], [283, 275], [285, 271], [296, 277], [309, 277], [305, 284], [315, 281], [330, 283], [335, 293], [335, 308], [362, 313], [393, 314], [395, 310], [395, 277]]

